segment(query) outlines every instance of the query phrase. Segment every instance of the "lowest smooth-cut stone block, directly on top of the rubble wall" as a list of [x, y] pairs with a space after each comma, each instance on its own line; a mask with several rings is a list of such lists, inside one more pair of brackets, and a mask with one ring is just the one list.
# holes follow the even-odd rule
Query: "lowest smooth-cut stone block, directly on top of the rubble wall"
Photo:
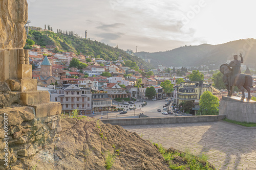
[[36, 118], [57, 115], [61, 113], [61, 104], [59, 102], [49, 102], [31, 105], [35, 109]]

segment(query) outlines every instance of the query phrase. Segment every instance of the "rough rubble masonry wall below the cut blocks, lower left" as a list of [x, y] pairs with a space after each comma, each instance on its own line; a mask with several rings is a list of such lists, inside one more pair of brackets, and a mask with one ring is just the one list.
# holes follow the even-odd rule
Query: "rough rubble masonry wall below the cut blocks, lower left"
[[[48, 144], [59, 140], [60, 116], [35, 118], [32, 107], [22, 106], [0, 109], [0, 127], [4, 127], [4, 113], [8, 113], [8, 136], [4, 135], [4, 128], [0, 129], [0, 169], [10, 169], [10, 165], [18, 165]], [[4, 138], [8, 138], [8, 166], [5, 166]], [[22, 168], [20, 168], [22, 169]]]

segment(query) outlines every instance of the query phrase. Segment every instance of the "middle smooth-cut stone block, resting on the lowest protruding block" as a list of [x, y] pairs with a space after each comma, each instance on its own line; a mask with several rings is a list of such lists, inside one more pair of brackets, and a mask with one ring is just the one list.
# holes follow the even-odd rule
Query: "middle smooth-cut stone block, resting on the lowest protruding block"
[[23, 105], [35, 105], [49, 103], [50, 94], [48, 91], [20, 92], [20, 103]]

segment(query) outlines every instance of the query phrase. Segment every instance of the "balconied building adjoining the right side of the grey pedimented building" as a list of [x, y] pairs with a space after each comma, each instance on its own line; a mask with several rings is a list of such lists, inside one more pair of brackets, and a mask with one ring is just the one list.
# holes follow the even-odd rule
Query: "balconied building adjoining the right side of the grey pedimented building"
[[112, 100], [109, 98], [108, 93], [104, 91], [97, 91], [92, 94], [93, 112], [108, 111], [112, 106]]

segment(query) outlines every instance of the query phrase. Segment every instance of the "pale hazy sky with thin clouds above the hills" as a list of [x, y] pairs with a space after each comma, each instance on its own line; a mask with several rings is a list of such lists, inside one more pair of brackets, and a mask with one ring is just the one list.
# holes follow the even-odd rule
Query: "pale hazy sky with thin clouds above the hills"
[[75, 31], [136, 52], [255, 38], [253, 0], [27, 0], [30, 26]]

